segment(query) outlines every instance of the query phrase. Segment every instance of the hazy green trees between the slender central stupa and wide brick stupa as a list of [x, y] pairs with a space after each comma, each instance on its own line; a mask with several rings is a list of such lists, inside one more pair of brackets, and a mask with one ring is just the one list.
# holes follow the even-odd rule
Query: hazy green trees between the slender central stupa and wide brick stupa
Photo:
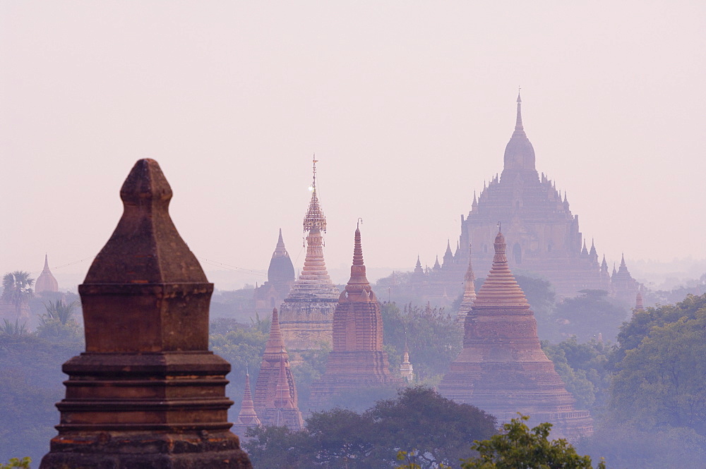
[[[383, 341], [389, 346], [388, 353], [401, 356], [407, 340], [409, 360], [419, 379], [443, 375], [460, 353], [462, 330], [455, 324], [455, 317], [446, 314], [443, 308], [405, 305], [400, 310], [395, 303], [383, 303], [381, 310]], [[399, 369], [391, 371], [397, 374]]]

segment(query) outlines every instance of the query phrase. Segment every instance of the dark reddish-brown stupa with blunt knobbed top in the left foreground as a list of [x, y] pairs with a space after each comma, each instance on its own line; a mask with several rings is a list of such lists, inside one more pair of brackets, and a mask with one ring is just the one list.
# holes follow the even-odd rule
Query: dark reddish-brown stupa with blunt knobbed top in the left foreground
[[227, 420], [230, 365], [208, 350], [213, 284], [169, 217], [172, 189], [141, 159], [124, 212], [79, 286], [86, 351], [41, 469], [251, 468]]

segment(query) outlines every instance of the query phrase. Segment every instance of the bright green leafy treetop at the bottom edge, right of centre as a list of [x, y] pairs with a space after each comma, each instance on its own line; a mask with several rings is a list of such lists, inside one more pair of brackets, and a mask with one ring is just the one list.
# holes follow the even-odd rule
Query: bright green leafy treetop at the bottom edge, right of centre
[[[479, 456], [465, 459], [462, 469], [592, 469], [590, 456], [579, 456], [565, 439], [549, 441], [551, 423], [540, 423], [530, 430], [520, 415], [503, 424], [503, 432], [484, 441], [474, 441]], [[605, 469], [605, 463], [597, 469]]]

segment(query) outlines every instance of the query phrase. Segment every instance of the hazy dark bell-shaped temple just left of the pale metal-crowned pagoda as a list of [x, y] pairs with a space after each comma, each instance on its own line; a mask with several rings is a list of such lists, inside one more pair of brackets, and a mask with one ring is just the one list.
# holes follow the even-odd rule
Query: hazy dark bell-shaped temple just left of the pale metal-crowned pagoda
[[270, 259], [270, 267], [267, 269], [267, 281], [255, 289], [255, 310], [271, 310], [282, 304], [287, 298], [289, 290], [294, 285], [294, 265], [289, 259], [289, 252], [285, 248], [285, 241], [282, 240], [282, 229], [280, 237], [277, 238], [275, 252]]

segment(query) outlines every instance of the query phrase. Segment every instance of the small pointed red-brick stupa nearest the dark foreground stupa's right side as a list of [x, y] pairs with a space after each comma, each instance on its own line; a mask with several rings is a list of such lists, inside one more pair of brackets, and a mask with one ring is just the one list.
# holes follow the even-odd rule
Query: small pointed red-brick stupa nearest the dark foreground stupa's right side
[[[285, 401], [282, 401], [283, 398]], [[297, 386], [294, 385], [289, 367], [289, 354], [280, 330], [277, 308], [272, 311], [270, 336], [255, 384], [253, 406], [263, 425], [287, 425], [292, 430], [304, 427], [297, 407]]]

